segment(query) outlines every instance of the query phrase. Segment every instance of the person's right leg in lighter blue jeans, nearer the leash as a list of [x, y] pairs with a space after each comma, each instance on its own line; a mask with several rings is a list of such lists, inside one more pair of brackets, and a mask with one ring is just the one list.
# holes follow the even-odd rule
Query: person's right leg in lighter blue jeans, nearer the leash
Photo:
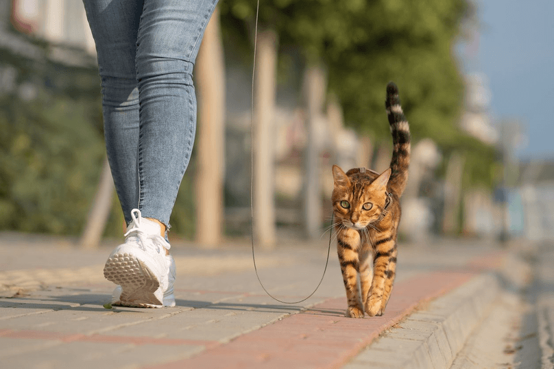
[[216, 0], [145, 0], [137, 38], [139, 209], [169, 227], [196, 125], [193, 65]]

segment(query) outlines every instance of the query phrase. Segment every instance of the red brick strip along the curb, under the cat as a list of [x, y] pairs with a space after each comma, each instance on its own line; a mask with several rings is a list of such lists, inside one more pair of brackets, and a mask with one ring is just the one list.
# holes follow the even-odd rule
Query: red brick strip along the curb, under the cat
[[190, 359], [149, 368], [339, 368], [420, 303], [497, 267], [503, 255], [474, 259], [466, 270], [429, 272], [397, 283], [380, 317], [345, 318], [346, 298], [333, 298]]

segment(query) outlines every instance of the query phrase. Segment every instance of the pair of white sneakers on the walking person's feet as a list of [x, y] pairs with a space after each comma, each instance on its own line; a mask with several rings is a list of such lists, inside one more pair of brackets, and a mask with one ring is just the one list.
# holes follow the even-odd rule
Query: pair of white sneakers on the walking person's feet
[[[133, 307], [163, 307], [166, 305], [164, 295], [167, 291], [173, 298], [174, 306], [172, 282], [175, 280], [175, 265], [171, 265], [173, 257], [165, 255], [165, 250], [171, 246], [160, 236], [158, 223], [143, 218], [139, 209], [133, 209], [131, 216], [133, 220], [127, 227], [125, 243], [112, 251], [104, 266], [104, 277], [120, 286], [119, 291], [118, 288], [114, 291], [114, 294], [118, 292], [118, 300], [112, 303]], [[171, 275], [173, 281], [169, 283]]]

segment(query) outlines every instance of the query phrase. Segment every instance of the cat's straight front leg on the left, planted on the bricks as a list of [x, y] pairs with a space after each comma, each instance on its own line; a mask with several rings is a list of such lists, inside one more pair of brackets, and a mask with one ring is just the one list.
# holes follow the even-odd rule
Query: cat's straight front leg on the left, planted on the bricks
[[337, 233], [337, 253], [341, 264], [342, 279], [348, 299], [348, 318], [363, 318], [363, 305], [358, 289], [360, 236], [352, 229], [339, 229]]

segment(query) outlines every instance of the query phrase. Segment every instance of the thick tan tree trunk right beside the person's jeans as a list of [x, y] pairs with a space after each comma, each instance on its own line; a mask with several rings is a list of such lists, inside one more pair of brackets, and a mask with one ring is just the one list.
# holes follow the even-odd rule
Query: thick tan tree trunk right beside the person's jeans
[[225, 62], [219, 8], [206, 27], [196, 64], [198, 166], [195, 176], [196, 240], [206, 247], [221, 242], [225, 172]]

